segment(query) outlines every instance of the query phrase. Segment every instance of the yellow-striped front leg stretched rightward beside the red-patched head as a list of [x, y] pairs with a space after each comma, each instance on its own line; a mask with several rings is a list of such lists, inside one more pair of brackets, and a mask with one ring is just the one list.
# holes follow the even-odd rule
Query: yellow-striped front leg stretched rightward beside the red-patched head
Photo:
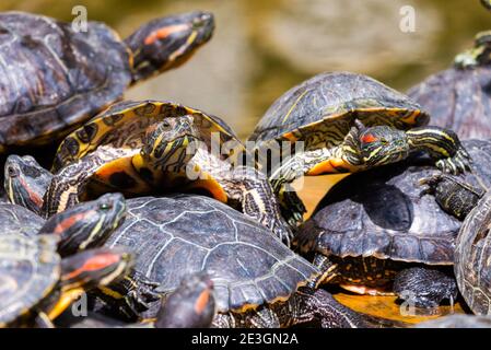
[[470, 170], [471, 160], [457, 135], [440, 127], [421, 127], [406, 131], [411, 151], [423, 150], [436, 160], [444, 173], [458, 175]]

